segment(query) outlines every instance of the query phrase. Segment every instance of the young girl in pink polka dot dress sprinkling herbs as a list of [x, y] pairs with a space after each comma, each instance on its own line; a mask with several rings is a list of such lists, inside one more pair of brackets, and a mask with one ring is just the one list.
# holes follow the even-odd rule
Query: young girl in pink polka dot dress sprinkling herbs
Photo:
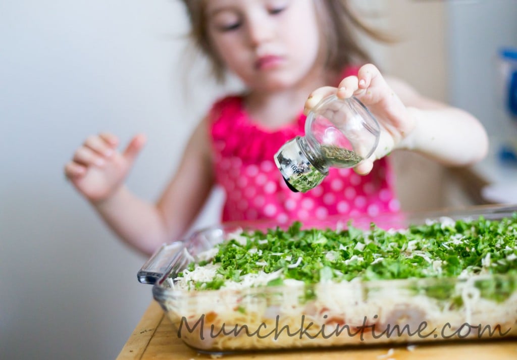
[[[141, 251], [151, 253], [179, 238], [216, 184], [226, 192], [222, 221], [375, 216], [399, 210], [384, 157], [393, 149], [416, 151], [451, 166], [485, 155], [487, 138], [477, 119], [423, 98], [367, 63], [349, 31], [350, 24], [362, 25], [346, 2], [184, 2], [193, 40], [211, 60], [216, 77], [222, 80], [231, 71], [247, 91], [215, 102], [156, 204], [136, 198], [124, 186], [144, 146], [142, 135], [122, 152], [112, 134], [89, 137], [65, 166], [75, 188]], [[320, 186], [292, 192], [273, 155], [287, 140], [304, 134], [305, 115], [329, 94], [361, 100], [380, 123], [381, 141], [388, 146], [378, 147], [355, 172], [331, 169]]]

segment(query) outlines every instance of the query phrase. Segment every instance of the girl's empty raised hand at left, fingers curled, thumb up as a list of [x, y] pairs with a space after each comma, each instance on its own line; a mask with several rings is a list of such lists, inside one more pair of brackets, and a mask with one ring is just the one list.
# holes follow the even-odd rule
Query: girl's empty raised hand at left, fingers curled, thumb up
[[90, 136], [66, 164], [65, 175], [90, 202], [106, 200], [123, 184], [145, 141], [145, 136], [139, 134], [120, 153], [114, 135]]

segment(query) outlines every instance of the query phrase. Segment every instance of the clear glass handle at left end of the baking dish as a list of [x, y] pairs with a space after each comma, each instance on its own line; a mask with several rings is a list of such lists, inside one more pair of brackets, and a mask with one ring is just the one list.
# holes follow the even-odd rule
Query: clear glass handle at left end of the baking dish
[[169, 272], [176, 257], [184, 248], [185, 244], [180, 241], [172, 244], [163, 244], [142, 266], [137, 275], [138, 281], [151, 285], [156, 283], [163, 274]]

